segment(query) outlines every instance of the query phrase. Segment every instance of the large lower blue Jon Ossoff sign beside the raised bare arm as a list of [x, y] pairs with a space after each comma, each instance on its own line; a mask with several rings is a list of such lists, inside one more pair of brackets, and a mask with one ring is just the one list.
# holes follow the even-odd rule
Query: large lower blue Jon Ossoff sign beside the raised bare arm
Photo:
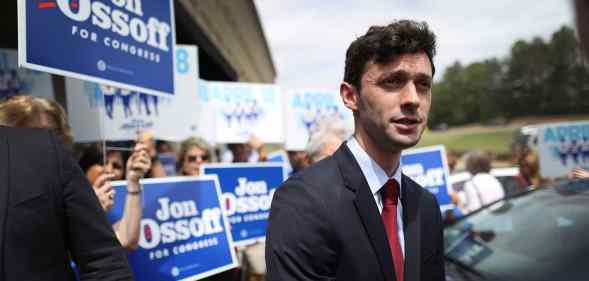
[[[237, 266], [217, 178], [170, 177], [141, 181], [143, 216], [139, 247], [128, 258], [136, 280], [198, 280]], [[126, 182], [109, 219], [123, 215]]]

